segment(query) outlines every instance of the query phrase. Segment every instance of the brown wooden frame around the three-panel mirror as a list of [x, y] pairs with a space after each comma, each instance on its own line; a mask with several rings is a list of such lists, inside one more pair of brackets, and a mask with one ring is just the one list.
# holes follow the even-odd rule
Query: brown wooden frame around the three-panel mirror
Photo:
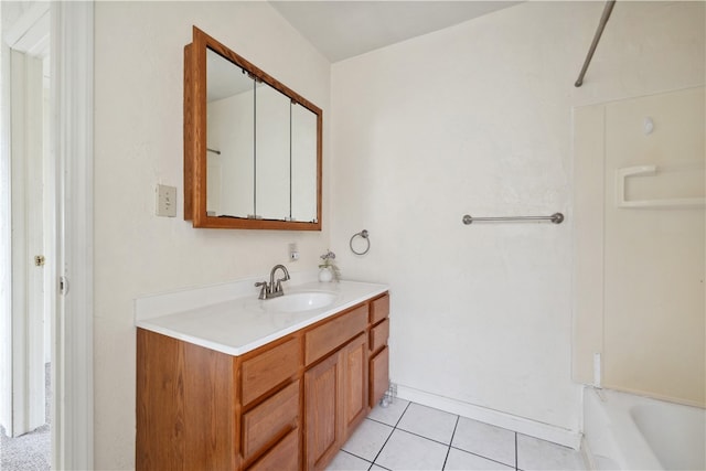
[[[206, 50], [210, 49], [258, 81], [317, 115], [317, 221], [297, 222], [217, 217], [206, 213]], [[184, 47], [184, 220], [194, 227], [231, 229], [321, 231], [323, 113], [301, 95], [193, 26], [193, 42]]]

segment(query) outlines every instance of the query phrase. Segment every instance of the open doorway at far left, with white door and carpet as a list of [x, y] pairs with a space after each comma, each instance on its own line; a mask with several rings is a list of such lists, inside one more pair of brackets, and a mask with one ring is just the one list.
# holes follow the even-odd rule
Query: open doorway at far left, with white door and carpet
[[57, 304], [50, 9], [8, 2], [1, 11], [0, 468], [49, 470]]

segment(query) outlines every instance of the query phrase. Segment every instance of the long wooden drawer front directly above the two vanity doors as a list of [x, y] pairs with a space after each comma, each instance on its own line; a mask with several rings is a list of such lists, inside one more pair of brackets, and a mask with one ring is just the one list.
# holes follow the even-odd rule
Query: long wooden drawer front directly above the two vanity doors
[[310, 365], [327, 353], [364, 332], [367, 327], [367, 304], [310, 330], [304, 340], [304, 363]]

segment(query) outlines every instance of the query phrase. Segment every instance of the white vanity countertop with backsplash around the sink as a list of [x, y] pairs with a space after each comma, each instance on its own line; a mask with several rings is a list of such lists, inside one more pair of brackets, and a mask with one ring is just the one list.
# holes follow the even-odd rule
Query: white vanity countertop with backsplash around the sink
[[[245, 282], [250, 283], [250, 280]], [[223, 295], [224, 286], [217, 289], [220, 295]], [[203, 301], [201, 303], [193, 299], [190, 300], [191, 302], [183, 302], [184, 292], [136, 300], [135, 324], [217, 352], [242, 355], [366, 299], [382, 295], [388, 287], [360, 281], [309, 281], [293, 286], [284, 283], [284, 289], [285, 297], [302, 291], [328, 291], [334, 292], [336, 299], [332, 304], [320, 309], [286, 313], [267, 312], [264, 309], [267, 300], [258, 300], [257, 291], [248, 296], [222, 299], [223, 296], [203, 296], [204, 289], [200, 289]], [[238, 291], [242, 290], [233, 290], [233, 292]], [[217, 302], [208, 302], [213, 299], [217, 299]], [[164, 302], [165, 300], [168, 302]]]

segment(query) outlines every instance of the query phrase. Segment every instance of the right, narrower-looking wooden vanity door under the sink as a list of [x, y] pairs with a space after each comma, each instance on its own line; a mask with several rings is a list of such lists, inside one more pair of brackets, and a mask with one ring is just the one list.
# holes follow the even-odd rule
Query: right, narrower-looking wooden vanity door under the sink
[[343, 368], [343, 420], [346, 439], [365, 418], [367, 411], [367, 341], [361, 334], [342, 351]]

